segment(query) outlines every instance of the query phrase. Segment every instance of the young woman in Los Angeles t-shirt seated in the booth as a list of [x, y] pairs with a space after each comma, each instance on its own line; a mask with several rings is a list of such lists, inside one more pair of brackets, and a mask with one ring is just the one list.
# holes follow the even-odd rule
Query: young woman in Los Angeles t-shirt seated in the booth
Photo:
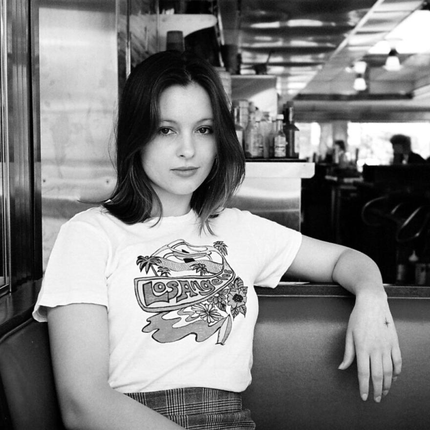
[[381, 401], [401, 355], [380, 272], [365, 255], [224, 209], [244, 175], [222, 85], [189, 53], [130, 74], [117, 124], [117, 184], [62, 227], [34, 311], [48, 321], [70, 429], [254, 429], [254, 285], [288, 272], [356, 295], [344, 360]]

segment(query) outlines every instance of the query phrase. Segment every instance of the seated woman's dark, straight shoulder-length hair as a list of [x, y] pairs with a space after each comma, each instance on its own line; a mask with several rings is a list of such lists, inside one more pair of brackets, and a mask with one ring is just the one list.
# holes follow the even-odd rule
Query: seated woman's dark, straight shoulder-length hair
[[[196, 83], [209, 95], [214, 114], [216, 159], [204, 182], [194, 191], [191, 208], [199, 216], [200, 232], [237, 190], [245, 173], [230, 105], [214, 68], [190, 52], [163, 51], [138, 64], [130, 73], [118, 106], [116, 126], [117, 183], [103, 206], [127, 224], [163, 215], [141, 160], [141, 150], [159, 128], [159, 98], [174, 85]], [[153, 211], [154, 209], [154, 211]]]

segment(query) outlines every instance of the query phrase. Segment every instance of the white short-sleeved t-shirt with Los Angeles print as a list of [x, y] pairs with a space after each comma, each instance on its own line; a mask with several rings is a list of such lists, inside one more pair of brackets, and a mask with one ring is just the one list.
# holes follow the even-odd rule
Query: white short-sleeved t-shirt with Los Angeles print
[[109, 385], [123, 393], [179, 387], [243, 391], [251, 383], [254, 285], [275, 287], [301, 234], [237, 209], [198, 234], [193, 211], [128, 225], [92, 208], [61, 228], [33, 312], [108, 309]]

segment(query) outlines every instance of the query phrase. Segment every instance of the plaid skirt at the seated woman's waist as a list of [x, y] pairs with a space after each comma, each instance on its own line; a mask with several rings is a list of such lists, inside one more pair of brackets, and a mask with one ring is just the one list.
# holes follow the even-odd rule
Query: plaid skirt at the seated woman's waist
[[253, 430], [240, 393], [215, 388], [175, 388], [148, 393], [126, 393], [189, 430]]

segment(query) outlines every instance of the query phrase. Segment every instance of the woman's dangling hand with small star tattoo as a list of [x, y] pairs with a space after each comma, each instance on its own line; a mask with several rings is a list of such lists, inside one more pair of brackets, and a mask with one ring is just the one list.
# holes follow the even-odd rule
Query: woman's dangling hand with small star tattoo
[[363, 291], [356, 297], [346, 330], [344, 360], [339, 369], [346, 369], [357, 357], [360, 395], [367, 400], [369, 378], [372, 378], [373, 399], [386, 396], [391, 381], [402, 370], [402, 357], [397, 332], [385, 294]]

